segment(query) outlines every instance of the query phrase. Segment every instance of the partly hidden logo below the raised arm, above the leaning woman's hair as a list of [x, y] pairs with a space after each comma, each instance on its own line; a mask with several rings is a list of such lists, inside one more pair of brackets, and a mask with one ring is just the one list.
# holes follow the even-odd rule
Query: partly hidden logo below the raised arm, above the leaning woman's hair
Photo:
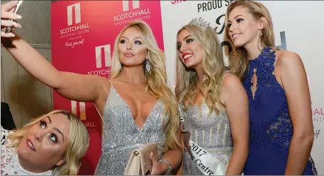
[[94, 122], [91, 122], [90, 119], [86, 119], [86, 103], [85, 102], [77, 102], [71, 100], [71, 109], [74, 115], [77, 115], [82, 120], [84, 126], [88, 127], [96, 127]]

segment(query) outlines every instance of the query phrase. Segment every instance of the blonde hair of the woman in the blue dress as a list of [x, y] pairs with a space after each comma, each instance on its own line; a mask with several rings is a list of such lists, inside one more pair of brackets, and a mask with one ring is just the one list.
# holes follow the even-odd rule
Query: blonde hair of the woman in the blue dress
[[[262, 46], [271, 47], [272, 49], [279, 50], [275, 47], [274, 42], [274, 27], [272, 25], [272, 18], [268, 11], [268, 9], [261, 3], [257, 1], [245, 1], [239, 0], [235, 1], [230, 6], [228, 6], [226, 15], [225, 15], [225, 33], [228, 40], [230, 40], [230, 35], [228, 34], [228, 16], [230, 12], [233, 11], [236, 7], [246, 8], [249, 13], [255, 18], [255, 20], [259, 20], [264, 17], [267, 19], [267, 25], [262, 30], [262, 36], [259, 37], [259, 42], [261, 42]], [[238, 76], [241, 80], [249, 68], [249, 58], [247, 56], [247, 51], [244, 47], [235, 47], [233, 41], [230, 40], [230, 45], [233, 46], [233, 51], [230, 52], [230, 72]], [[259, 49], [261, 52], [261, 49]]]

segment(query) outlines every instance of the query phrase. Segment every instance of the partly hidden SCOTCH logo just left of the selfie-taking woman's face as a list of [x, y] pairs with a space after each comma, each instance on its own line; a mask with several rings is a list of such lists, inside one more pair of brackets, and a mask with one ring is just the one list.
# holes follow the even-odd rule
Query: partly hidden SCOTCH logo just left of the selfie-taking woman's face
[[88, 74], [107, 77], [111, 66], [111, 45], [101, 45], [94, 48], [96, 53], [96, 70]]

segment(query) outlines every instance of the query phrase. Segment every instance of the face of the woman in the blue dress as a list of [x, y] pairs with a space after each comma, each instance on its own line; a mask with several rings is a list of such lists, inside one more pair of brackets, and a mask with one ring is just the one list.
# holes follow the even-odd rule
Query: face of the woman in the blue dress
[[242, 6], [235, 7], [228, 16], [228, 35], [235, 47], [257, 45], [262, 24]]

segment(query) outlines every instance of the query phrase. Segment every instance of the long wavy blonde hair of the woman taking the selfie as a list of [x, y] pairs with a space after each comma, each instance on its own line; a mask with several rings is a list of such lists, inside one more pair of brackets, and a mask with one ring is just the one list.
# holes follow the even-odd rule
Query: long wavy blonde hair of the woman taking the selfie
[[[162, 52], [162, 50], [157, 46], [157, 42], [150, 26], [147, 25], [147, 23], [145, 23], [143, 20], [131, 21], [123, 30], [121, 30], [121, 33], [128, 28], [135, 28], [138, 30], [142, 37], [143, 44], [147, 49], [147, 55], [150, 58], [150, 72], [147, 73], [147, 71], [144, 71], [147, 81], [145, 90], [147, 93], [150, 93], [164, 102], [164, 115], [169, 115], [169, 122], [165, 128], [167, 145], [164, 146], [164, 152], [166, 152], [169, 148], [181, 148], [181, 144], [179, 141], [177, 141], [176, 137], [177, 131], [179, 130], [179, 110], [174, 94], [167, 86], [164, 52]], [[118, 58], [118, 43], [121, 33], [119, 33], [119, 35], [116, 37], [113, 48], [111, 78], [117, 78], [123, 71], [123, 67], [121, 66], [121, 62]]]

